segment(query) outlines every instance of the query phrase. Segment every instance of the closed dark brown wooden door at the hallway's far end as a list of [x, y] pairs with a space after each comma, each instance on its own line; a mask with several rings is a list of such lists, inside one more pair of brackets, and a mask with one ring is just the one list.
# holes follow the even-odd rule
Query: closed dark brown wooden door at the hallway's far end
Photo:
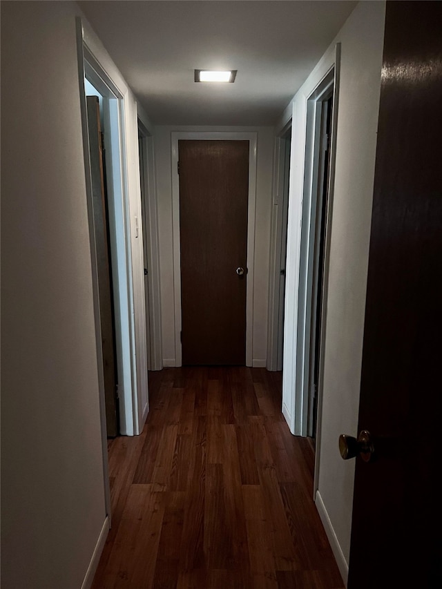
[[182, 363], [244, 365], [249, 142], [182, 140], [178, 151]]

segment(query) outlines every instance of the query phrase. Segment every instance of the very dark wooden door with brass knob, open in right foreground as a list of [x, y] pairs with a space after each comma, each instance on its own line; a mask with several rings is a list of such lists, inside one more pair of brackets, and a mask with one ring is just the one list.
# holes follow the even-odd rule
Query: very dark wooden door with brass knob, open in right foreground
[[442, 587], [441, 26], [441, 2], [387, 2], [349, 589]]

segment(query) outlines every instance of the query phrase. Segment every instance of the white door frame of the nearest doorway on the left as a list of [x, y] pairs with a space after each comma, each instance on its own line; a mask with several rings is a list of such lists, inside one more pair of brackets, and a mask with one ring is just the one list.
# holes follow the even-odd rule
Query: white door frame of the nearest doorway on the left
[[[90, 41], [90, 43], [89, 43]], [[112, 182], [108, 183], [108, 197], [111, 264], [113, 272], [113, 293], [115, 311], [115, 345], [118, 372], [119, 430], [120, 434], [133, 436], [140, 433], [140, 410], [137, 387], [137, 354], [135, 354], [135, 309], [133, 297], [133, 267], [131, 247], [131, 220], [129, 218], [128, 173], [126, 163], [126, 100], [128, 93], [120, 90], [93, 52], [94, 40], [84, 30], [77, 17], [77, 57], [80, 84], [81, 122], [84, 135], [86, 195], [88, 210], [92, 202], [90, 187], [90, 164], [88, 157], [88, 122], [84, 78], [103, 96], [104, 143], [106, 147], [106, 168]], [[92, 210], [92, 209], [90, 209]], [[90, 211], [89, 211], [90, 213]], [[96, 271], [95, 239], [93, 226], [90, 227], [90, 247], [94, 282], [95, 330], [97, 337], [97, 358], [99, 363], [100, 408], [105, 470], [107, 469], [106, 412], [104, 405], [104, 380], [102, 374], [101, 328], [99, 325], [99, 302]], [[138, 359], [140, 361], [140, 359]], [[104, 432], [104, 433], [103, 433]], [[106, 476], [105, 476], [106, 479]], [[105, 481], [105, 487], [108, 485]], [[107, 501], [107, 500], [106, 500]], [[107, 505], [107, 503], [106, 503]], [[109, 503], [110, 510], [110, 503]], [[110, 511], [109, 511], [110, 513]]]

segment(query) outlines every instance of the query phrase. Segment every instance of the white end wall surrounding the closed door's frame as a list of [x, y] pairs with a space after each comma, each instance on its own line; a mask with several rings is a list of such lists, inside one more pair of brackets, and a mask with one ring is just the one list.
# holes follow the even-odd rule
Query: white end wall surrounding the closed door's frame
[[265, 366], [267, 354], [267, 302], [269, 274], [269, 232], [273, 166], [273, 127], [155, 127], [157, 205], [160, 235], [160, 273], [162, 293], [162, 338], [164, 365], [175, 365], [173, 302], [173, 233], [171, 133], [173, 131], [225, 131], [258, 134], [255, 224], [255, 272], [253, 287], [253, 362]]

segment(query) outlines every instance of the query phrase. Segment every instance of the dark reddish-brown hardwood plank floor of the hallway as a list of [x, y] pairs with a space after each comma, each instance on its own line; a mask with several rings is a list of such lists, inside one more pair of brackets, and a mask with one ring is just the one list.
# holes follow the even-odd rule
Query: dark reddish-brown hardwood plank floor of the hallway
[[281, 373], [149, 373], [143, 432], [110, 441], [112, 528], [93, 589], [344, 589]]

